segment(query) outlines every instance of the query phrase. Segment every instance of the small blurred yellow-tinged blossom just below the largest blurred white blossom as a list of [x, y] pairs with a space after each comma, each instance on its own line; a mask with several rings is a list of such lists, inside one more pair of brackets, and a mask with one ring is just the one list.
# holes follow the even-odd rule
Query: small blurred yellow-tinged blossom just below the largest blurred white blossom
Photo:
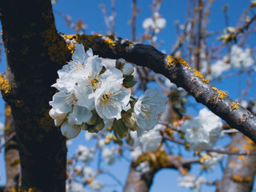
[[203, 166], [207, 169], [214, 169], [214, 165], [219, 164], [225, 158], [224, 154], [211, 153], [210, 155], [203, 154]]

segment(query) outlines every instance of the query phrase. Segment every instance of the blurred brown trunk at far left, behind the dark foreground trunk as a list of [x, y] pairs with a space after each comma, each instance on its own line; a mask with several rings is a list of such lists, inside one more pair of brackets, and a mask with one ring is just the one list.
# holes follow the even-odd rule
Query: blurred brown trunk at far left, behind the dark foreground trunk
[[6, 145], [4, 146], [5, 166], [7, 170], [6, 192], [18, 191], [20, 187], [20, 155], [18, 150], [18, 142], [15, 137], [15, 126], [12, 118], [11, 107], [5, 107], [5, 131], [4, 138]]

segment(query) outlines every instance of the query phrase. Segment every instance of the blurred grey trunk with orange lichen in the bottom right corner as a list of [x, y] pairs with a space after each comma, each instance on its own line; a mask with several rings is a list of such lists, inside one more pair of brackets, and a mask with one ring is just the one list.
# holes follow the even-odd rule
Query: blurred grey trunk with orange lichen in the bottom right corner
[[[236, 134], [230, 144], [230, 150], [256, 150], [256, 145], [243, 134]], [[222, 181], [217, 192], [249, 192], [255, 180], [255, 155], [229, 155]]]

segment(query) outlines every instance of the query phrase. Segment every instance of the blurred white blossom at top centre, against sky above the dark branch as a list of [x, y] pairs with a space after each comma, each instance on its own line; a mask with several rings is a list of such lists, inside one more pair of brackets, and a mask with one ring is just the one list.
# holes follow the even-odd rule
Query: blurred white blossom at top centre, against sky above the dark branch
[[146, 18], [146, 20], [143, 21], [143, 28], [153, 29], [156, 34], [162, 31], [165, 25], [166, 20], [165, 18], [160, 18], [159, 12], [154, 12], [153, 18]]

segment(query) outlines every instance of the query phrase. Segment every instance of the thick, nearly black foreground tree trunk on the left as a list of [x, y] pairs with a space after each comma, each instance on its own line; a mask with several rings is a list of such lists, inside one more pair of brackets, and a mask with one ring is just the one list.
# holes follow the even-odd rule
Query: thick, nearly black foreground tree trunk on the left
[[56, 31], [50, 0], [1, 0], [0, 18], [7, 54], [1, 92], [15, 121], [21, 188], [65, 191], [66, 139], [48, 115], [48, 102], [70, 52]]

